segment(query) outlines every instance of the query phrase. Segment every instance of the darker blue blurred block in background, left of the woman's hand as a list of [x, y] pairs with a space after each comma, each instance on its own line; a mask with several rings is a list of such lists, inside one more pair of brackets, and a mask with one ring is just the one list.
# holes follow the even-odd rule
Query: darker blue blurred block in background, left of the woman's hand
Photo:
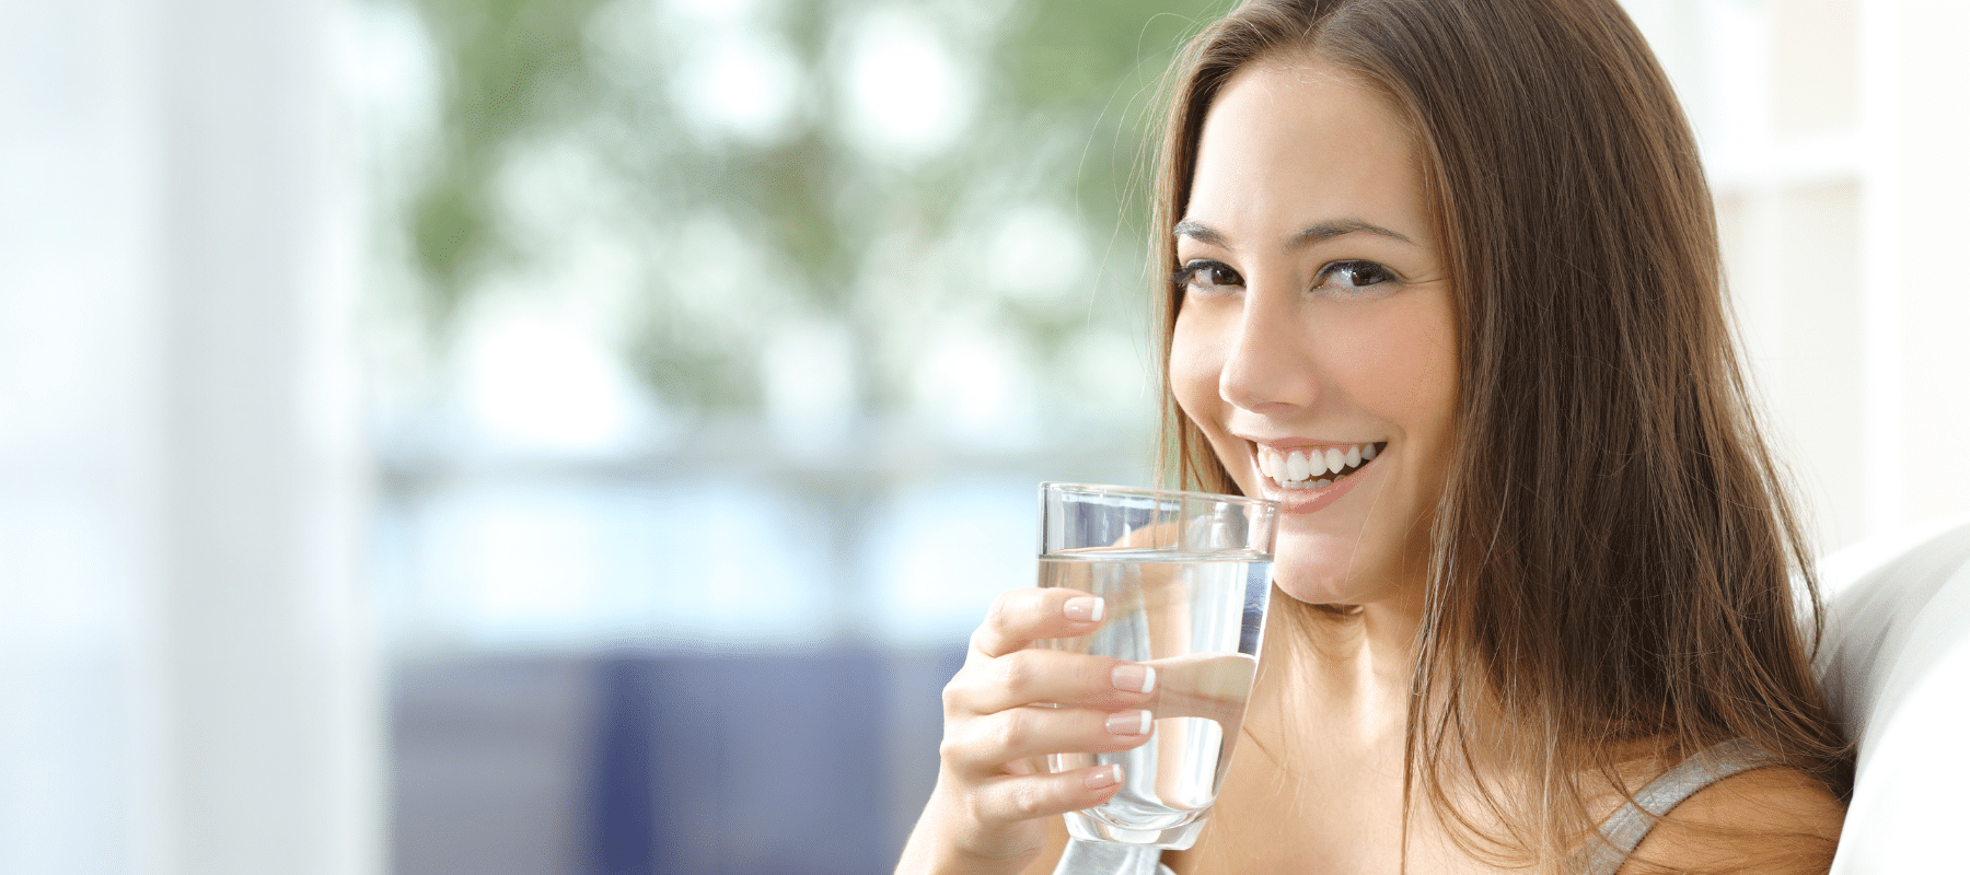
[[888, 662], [867, 648], [611, 656], [601, 666], [591, 871], [894, 867], [883, 824], [896, 741], [885, 719]]

